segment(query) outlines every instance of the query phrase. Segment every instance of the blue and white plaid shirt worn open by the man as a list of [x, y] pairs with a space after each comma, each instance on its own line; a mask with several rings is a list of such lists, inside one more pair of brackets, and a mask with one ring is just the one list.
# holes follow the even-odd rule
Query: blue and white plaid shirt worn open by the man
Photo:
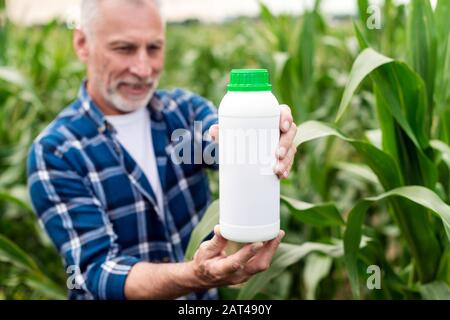
[[[125, 279], [137, 262], [184, 260], [210, 192], [206, 165], [171, 161], [177, 143], [171, 134], [185, 128], [194, 137], [194, 121], [201, 121], [204, 133], [217, 123], [217, 113], [211, 103], [181, 89], [157, 91], [147, 106], [164, 221], [145, 174], [85, 85], [31, 146], [29, 194], [39, 222], [76, 273], [69, 298], [124, 299]], [[217, 299], [217, 290], [182, 298]]]

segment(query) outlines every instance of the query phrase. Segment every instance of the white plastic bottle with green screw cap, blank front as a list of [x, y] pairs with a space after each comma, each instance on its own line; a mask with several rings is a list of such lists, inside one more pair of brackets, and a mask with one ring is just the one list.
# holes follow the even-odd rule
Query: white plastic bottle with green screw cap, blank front
[[280, 181], [274, 173], [280, 108], [263, 69], [232, 70], [219, 106], [220, 230], [236, 242], [274, 239]]

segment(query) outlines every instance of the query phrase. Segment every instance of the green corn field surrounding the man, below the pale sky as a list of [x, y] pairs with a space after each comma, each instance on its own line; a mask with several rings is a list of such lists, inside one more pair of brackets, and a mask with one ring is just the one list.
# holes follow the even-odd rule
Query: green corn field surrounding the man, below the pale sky
[[[218, 105], [232, 68], [266, 68], [298, 124], [281, 185], [286, 231], [270, 268], [223, 299], [450, 299], [450, 1], [385, 0], [330, 20], [169, 24], [160, 87]], [[0, 1], [0, 299], [65, 299], [61, 259], [26, 192], [33, 139], [76, 96], [84, 67], [57, 21], [14, 25]], [[218, 223], [216, 201], [186, 259]], [[234, 246], [234, 247], [233, 247]], [[235, 250], [231, 244], [229, 250]]]

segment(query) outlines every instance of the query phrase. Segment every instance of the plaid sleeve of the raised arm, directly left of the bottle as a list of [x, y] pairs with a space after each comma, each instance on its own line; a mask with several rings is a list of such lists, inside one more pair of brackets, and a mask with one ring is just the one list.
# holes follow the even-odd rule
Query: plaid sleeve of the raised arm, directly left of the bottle
[[191, 105], [194, 111], [194, 121], [202, 124], [203, 165], [217, 170], [219, 169], [219, 145], [212, 141], [208, 134], [211, 126], [219, 123], [217, 109], [209, 100], [198, 95], [192, 96]]

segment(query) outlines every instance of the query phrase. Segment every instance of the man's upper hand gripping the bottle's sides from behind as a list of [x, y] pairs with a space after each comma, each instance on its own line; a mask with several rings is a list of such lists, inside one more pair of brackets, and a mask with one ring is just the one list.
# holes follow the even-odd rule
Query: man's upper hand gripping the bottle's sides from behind
[[[277, 165], [275, 166], [275, 174], [280, 179], [286, 179], [291, 171], [294, 163], [297, 147], [294, 145], [294, 138], [297, 134], [297, 126], [295, 125], [291, 109], [287, 105], [280, 105], [280, 144], [277, 150]], [[214, 141], [219, 138], [219, 125], [213, 125], [209, 129], [209, 134]]]

